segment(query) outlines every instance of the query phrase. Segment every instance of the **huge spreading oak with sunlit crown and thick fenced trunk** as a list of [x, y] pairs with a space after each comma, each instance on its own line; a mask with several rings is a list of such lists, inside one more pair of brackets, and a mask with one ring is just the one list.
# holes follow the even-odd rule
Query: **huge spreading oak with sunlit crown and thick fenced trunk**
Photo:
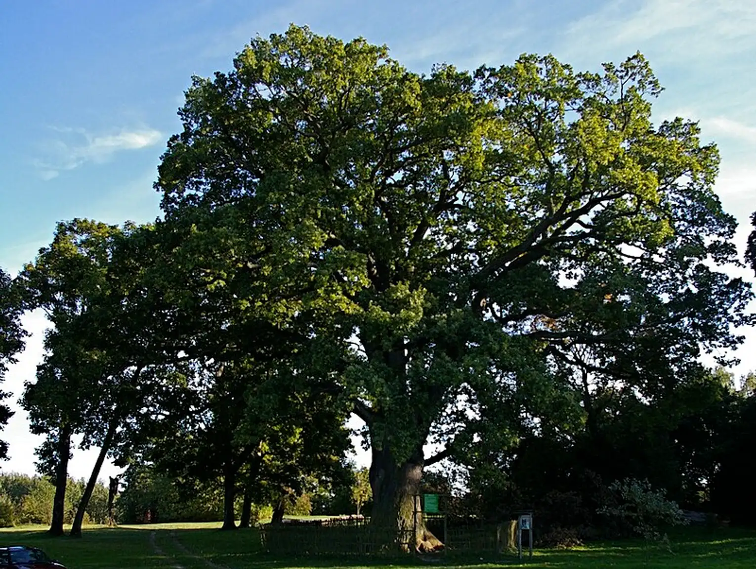
[[694, 122], [652, 123], [661, 90], [640, 54], [421, 76], [296, 26], [194, 78], [166, 218], [216, 216], [234, 244], [218, 274], [312, 322], [313, 365], [366, 424], [373, 521], [417, 527], [407, 543], [438, 546], [413, 520], [423, 468], [484, 419], [538, 424], [576, 347], [583, 368], [662, 378], [737, 344], [750, 291], [717, 268], [736, 260], [717, 150]]

